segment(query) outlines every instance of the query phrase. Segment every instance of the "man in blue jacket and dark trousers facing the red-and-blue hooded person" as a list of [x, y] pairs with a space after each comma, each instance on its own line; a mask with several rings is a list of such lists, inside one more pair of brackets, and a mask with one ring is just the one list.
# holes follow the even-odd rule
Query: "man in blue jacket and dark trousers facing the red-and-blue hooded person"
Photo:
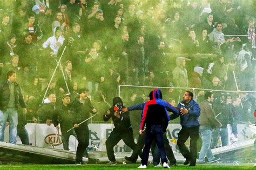
[[[201, 113], [198, 103], [193, 99], [193, 93], [186, 91], [183, 100], [178, 104], [180, 113], [170, 115], [170, 120], [180, 116], [181, 130], [178, 135], [177, 145], [186, 161], [184, 165], [196, 166], [197, 161], [197, 140], [199, 139], [199, 115]], [[190, 137], [190, 151], [185, 145]]]

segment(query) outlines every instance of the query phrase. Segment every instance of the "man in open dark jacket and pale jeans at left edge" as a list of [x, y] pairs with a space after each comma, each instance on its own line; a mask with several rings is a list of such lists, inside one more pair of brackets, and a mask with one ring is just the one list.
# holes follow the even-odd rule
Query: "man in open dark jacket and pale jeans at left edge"
[[4, 141], [4, 130], [6, 121], [10, 121], [9, 143], [17, 142], [17, 124], [18, 124], [18, 104], [23, 108], [26, 114], [26, 104], [23, 99], [21, 87], [16, 82], [17, 75], [15, 71], [8, 71], [8, 80], [0, 84], [0, 141]]

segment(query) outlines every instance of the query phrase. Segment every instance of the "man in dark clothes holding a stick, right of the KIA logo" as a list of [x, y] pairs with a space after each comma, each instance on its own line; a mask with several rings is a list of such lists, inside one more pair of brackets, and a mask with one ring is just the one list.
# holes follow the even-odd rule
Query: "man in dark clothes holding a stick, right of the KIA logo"
[[91, 100], [87, 98], [87, 89], [80, 89], [78, 91], [79, 98], [72, 103], [73, 126], [77, 135], [77, 158], [76, 164], [83, 164], [83, 154], [89, 146], [89, 128], [88, 121], [78, 125], [82, 121], [90, 117], [90, 113], [96, 113], [97, 110], [92, 106]]

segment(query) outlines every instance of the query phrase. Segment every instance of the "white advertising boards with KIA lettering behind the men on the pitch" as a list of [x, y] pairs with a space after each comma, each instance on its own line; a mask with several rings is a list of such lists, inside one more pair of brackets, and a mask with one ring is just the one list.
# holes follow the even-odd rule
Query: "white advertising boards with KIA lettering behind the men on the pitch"
[[[61, 132], [59, 133], [56, 130], [56, 127], [51, 124], [48, 126], [46, 124], [26, 124], [26, 130], [29, 134], [30, 145], [41, 146], [41, 147], [54, 147], [63, 149]], [[228, 126], [228, 144], [231, 145], [237, 141], [245, 141], [252, 139], [255, 135], [255, 126], [247, 126], [239, 124], [238, 126], [238, 138], [235, 138], [231, 132], [230, 126]], [[114, 128], [113, 124], [89, 124], [89, 147], [88, 151], [106, 151], [106, 139], [109, 137], [110, 133]], [[180, 124], [169, 124], [166, 136], [169, 139], [170, 145], [172, 146], [173, 151], [178, 151], [177, 139], [178, 133], [180, 131]], [[138, 132], [133, 132], [138, 133]], [[5, 128], [4, 141], [9, 141], [9, 127]], [[22, 144], [19, 137], [17, 138], [17, 144]], [[70, 151], [76, 151], [78, 141], [72, 135], [69, 139], [69, 149]], [[185, 143], [189, 146], [189, 139]], [[221, 146], [221, 141], [219, 139], [219, 146]], [[123, 140], [118, 142], [114, 147], [114, 152], [125, 152], [129, 151], [126, 149], [126, 145]]]

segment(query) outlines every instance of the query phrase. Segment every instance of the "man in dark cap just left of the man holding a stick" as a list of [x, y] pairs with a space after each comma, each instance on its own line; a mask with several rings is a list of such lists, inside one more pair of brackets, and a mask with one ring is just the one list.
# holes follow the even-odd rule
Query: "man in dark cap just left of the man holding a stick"
[[52, 123], [59, 130], [59, 124], [62, 132], [62, 142], [64, 150], [69, 151], [69, 137], [73, 135], [77, 138], [75, 130], [67, 132], [72, 127], [73, 114], [70, 110], [70, 94], [64, 94], [62, 97], [62, 104], [56, 107], [55, 113], [53, 113]]

